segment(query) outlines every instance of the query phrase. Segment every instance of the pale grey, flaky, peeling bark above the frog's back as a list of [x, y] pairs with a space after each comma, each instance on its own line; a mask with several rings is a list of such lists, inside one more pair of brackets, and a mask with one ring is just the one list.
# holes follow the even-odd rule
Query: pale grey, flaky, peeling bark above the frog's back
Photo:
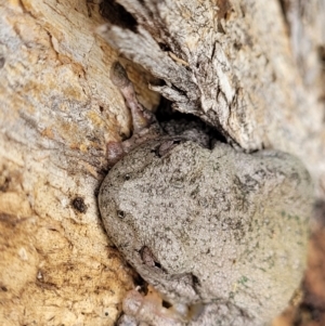
[[[312, 34], [322, 28], [324, 1], [287, 4], [292, 50], [277, 1], [118, 2], [136, 26], [109, 23], [101, 32], [126, 57], [165, 80], [153, 89], [247, 151], [273, 147], [301, 157], [325, 182], [316, 57], [324, 36]], [[297, 61], [306, 62], [300, 69]]]

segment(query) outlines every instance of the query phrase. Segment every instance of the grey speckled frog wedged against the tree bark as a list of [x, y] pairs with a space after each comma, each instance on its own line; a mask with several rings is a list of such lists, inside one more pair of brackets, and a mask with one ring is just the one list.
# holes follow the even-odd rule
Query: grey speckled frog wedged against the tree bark
[[127, 295], [119, 325], [270, 325], [307, 264], [308, 170], [277, 149], [245, 153], [195, 128], [168, 133], [119, 63], [110, 79], [133, 134], [107, 144], [99, 208], [107, 235], [151, 287]]

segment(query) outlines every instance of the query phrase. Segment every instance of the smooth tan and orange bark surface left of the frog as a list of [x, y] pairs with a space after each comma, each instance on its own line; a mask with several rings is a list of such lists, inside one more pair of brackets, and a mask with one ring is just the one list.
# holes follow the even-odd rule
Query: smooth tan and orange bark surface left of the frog
[[95, 197], [106, 142], [129, 135], [116, 54], [98, 4], [0, 5], [0, 324], [113, 325], [132, 287]]

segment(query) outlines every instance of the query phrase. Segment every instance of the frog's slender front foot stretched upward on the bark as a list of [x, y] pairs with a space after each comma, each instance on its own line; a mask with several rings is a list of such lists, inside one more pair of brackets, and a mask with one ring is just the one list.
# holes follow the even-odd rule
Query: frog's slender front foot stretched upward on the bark
[[131, 139], [122, 143], [109, 142], [107, 144], [108, 165], [114, 166], [136, 145], [161, 134], [161, 129], [155, 115], [139, 103], [133, 84], [128, 78], [125, 68], [118, 62], [112, 65], [109, 75], [113, 83], [119, 88], [127, 106], [131, 110], [133, 123], [133, 135]]

